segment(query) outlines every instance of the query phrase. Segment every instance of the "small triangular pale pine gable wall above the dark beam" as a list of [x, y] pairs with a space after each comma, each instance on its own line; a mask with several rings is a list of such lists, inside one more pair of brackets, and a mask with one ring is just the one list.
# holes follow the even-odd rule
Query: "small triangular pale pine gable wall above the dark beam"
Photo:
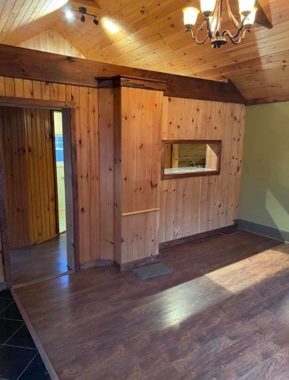
[[28, 49], [47, 51], [48, 53], [63, 54], [71, 57], [85, 58], [75, 47], [69, 44], [55, 30], [46, 30], [34, 36], [21, 44], [18, 47], [26, 47]]

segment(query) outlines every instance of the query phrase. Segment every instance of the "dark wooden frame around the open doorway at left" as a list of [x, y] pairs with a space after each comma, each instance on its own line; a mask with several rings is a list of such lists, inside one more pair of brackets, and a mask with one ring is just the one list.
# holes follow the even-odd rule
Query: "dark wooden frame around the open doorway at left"
[[[66, 151], [67, 171], [70, 175], [67, 181], [70, 181], [68, 188], [71, 191], [72, 198], [72, 236], [67, 237], [70, 240], [71, 249], [74, 255], [71, 257], [75, 272], [80, 271], [80, 252], [79, 252], [79, 215], [78, 215], [78, 176], [77, 176], [77, 148], [76, 148], [76, 124], [75, 124], [75, 103], [57, 100], [30, 99], [23, 97], [0, 96], [0, 106], [21, 107], [21, 108], [43, 108], [62, 113], [62, 128], [67, 138]], [[69, 159], [70, 158], [70, 159]], [[12, 287], [10, 248], [8, 241], [7, 210], [5, 203], [4, 176], [2, 167], [2, 141], [0, 139], [0, 233], [2, 237], [2, 252], [5, 274], [6, 287]], [[65, 184], [65, 187], [66, 184]], [[66, 191], [66, 190], [65, 190]], [[66, 202], [66, 201], [65, 201]], [[67, 247], [68, 256], [68, 247]], [[67, 257], [68, 261], [68, 257]], [[70, 264], [71, 265], [71, 264]]]

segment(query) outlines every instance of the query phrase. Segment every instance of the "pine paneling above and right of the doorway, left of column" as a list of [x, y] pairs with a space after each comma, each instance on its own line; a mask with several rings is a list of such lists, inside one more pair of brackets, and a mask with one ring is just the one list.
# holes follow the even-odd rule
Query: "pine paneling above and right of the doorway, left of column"
[[0, 77], [0, 96], [74, 101], [77, 142], [80, 262], [99, 258], [97, 89]]

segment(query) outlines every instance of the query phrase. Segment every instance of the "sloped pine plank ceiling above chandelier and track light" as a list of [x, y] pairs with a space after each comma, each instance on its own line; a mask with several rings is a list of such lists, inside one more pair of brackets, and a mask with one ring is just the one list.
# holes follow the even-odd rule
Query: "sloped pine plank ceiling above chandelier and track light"
[[[234, 2], [236, 0], [231, 0]], [[255, 25], [240, 45], [196, 45], [185, 33], [182, 8], [198, 0], [0, 0], [0, 43], [19, 43], [47, 29], [100, 62], [217, 81], [230, 78], [249, 102], [289, 100], [288, 0], [259, 0], [273, 25]], [[68, 22], [64, 8], [97, 14]], [[230, 28], [223, 14], [223, 27]], [[256, 100], [258, 99], [258, 100]]]

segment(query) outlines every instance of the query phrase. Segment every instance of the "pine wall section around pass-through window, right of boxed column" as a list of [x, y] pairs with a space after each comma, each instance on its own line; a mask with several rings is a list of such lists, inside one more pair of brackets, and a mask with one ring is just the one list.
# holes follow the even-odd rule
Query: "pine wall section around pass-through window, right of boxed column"
[[221, 173], [161, 181], [160, 242], [232, 225], [239, 213], [245, 107], [164, 97], [162, 139], [222, 140]]

